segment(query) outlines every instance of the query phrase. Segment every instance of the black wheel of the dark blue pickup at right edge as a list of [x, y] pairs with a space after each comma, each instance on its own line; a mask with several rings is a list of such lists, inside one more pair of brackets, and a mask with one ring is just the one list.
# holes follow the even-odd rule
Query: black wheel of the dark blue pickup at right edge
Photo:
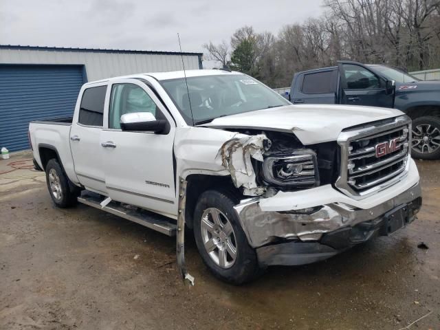
[[412, 120], [412, 150], [415, 159], [440, 158], [440, 118], [428, 115]]

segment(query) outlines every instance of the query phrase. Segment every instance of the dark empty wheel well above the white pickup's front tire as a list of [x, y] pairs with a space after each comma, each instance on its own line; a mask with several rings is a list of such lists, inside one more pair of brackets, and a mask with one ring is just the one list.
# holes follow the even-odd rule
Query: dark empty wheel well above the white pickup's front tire
[[236, 203], [245, 198], [234, 186], [230, 176], [192, 174], [186, 177], [186, 181], [188, 184], [186, 185], [185, 221], [189, 228], [192, 228], [197, 200], [203, 192], [207, 190], [227, 192]]

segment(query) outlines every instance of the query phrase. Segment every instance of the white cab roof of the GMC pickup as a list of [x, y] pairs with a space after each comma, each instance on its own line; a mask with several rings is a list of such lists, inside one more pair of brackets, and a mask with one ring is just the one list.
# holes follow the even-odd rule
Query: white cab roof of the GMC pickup
[[157, 80], [169, 80], [169, 79], [177, 79], [177, 78], [184, 78], [186, 74], [187, 78], [191, 77], [201, 77], [201, 76], [220, 76], [220, 75], [228, 75], [228, 74], [242, 74], [241, 72], [230, 72], [226, 70], [219, 70], [219, 69], [197, 69], [197, 70], [186, 70], [185, 72], [183, 70], [181, 71], [169, 71], [169, 72], [151, 72], [151, 73], [145, 73], [145, 74], [129, 74], [127, 76], [118, 76], [118, 77], [112, 77], [107, 79], [101, 79], [96, 81], [89, 81], [89, 83], [85, 85], [93, 85], [96, 83], [104, 83], [107, 81], [119, 79], [119, 78], [142, 78], [145, 76], [151, 76]]

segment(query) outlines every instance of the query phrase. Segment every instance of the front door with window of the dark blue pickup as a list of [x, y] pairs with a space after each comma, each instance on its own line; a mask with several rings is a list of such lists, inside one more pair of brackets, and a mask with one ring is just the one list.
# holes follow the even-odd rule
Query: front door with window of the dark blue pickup
[[393, 107], [393, 94], [386, 94], [385, 80], [366, 67], [351, 63], [339, 63], [342, 104]]

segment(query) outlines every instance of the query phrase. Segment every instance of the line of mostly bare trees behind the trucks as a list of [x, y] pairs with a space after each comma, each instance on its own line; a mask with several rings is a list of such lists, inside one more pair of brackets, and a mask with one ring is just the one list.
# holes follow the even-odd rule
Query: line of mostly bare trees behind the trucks
[[440, 67], [440, 0], [323, 0], [322, 16], [278, 34], [239, 28], [230, 41], [203, 45], [218, 67], [287, 87], [295, 72], [338, 60], [406, 71]]

